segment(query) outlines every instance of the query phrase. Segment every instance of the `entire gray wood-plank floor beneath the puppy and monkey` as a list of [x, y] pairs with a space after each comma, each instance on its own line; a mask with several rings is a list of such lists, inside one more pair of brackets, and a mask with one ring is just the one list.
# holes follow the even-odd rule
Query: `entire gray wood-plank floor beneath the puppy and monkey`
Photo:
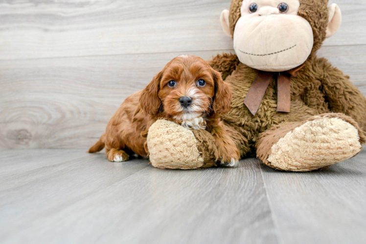
[[366, 150], [310, 173], [0, 150], [0, 243], [364, 244]]

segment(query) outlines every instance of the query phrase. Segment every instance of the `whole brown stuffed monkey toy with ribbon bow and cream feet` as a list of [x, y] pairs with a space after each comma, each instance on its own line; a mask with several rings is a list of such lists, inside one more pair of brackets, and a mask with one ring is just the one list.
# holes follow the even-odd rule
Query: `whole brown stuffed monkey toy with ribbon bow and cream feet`
[[[236, 55], [217, 55], [209, 63], [231, 85], [231, 110], [222, 119], [241, 158], [311, 171], [361, 151], [366, 98], [348, 76], [316, 56], [341, 24], [339, 7], [327, 5], [328, 0], [232, 0], [222, 12]], [[210, 135], [171, 122], [153, 124], [147, 145], [156, 167], [216, 165], [208, 157], [217, 153]]]

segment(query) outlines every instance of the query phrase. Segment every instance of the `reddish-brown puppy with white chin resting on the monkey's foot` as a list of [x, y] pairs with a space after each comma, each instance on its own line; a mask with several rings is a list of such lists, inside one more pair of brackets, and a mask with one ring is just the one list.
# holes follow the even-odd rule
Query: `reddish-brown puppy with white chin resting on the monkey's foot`
[[239, 151], [220, 120], [220, 115], [230, 110], [231, 98], [229, 85], [206, 61], [179, 56], [144, 90], [122, 103], [89, 152], [105, 147], [111, 162], [127, 161], [133, 154], [147, 157], [147, 131], [157, 119], [164, 118], [187, 128], [206, 128], [215, 139], [221, 163], [235, 166]]

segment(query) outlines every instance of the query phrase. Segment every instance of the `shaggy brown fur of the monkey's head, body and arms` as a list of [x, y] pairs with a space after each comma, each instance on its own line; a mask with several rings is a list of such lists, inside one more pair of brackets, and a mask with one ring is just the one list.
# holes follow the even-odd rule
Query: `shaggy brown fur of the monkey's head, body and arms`
[[[231, 128], [231, 137], [238, 145], [241, 157], [258, 156], [264, 163], [271, 146], [279, 138], [310, 117], [324, 113], [342, 113], [352, 117], [351, 124], [359, 128], [360, 142], [365, 143], [366, 99], [342, 71], [316, 52], [325, 39], [328, 23], [328, 0], [300, 0], [298, 15], [308, 20], [314, 33], [314, 47], [297, 77], [291, 78], [291, 112], [276, 112], [277, 85], [272, 80], [258, 112], [253, 116], [243, 101], [254, 81], [257, 70], [240, 63], [235, 55], [223, 54], [209, 63], [223, 73], [231, 84], [231, 110], [225, 114], [225, 124]], [[231, 34], [240, 18], [242, 0], [232, 0], [229, 15]], [[343, 118], [337, 115], [338, 118]], [[258, 142], [262, 142], [259, 143]], [[257, 143], [258, 142], [258, 143]], [[270, 164], [268, 164], [271, 166]]]

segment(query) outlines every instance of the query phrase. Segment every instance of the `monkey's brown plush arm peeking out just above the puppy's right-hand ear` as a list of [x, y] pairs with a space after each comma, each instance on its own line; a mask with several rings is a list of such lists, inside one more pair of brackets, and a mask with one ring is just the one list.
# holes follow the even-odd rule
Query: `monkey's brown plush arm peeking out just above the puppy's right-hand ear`
[[232, 71], [235, 70], [236, 65], [238, 65], [240, 61], [236, 54], [223, 53], [216, 55], [207, 62], [213, 69], [221, 72], [222, 78], [225, 80], [232, 73]]

